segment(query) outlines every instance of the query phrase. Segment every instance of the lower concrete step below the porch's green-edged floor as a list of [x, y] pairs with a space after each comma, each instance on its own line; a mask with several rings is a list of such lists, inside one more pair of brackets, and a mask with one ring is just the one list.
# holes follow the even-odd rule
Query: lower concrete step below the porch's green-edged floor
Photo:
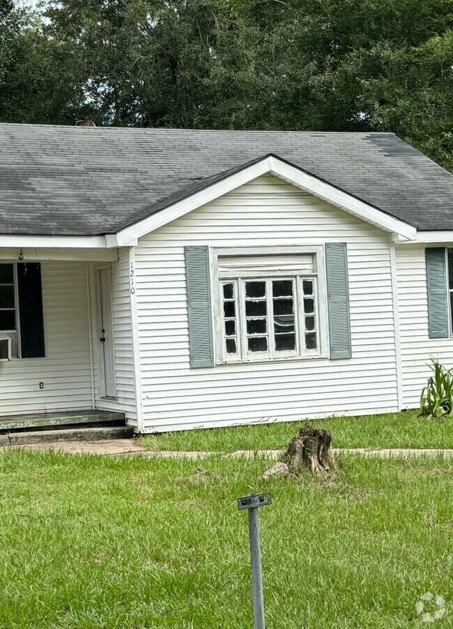
[[0, 435], [0, 446], [26, 446], [68, 441], [101, 441], [132, 437], [130, 426], [94, 426], [91, 428], [59, 428], [58, 430], [27, 430]]

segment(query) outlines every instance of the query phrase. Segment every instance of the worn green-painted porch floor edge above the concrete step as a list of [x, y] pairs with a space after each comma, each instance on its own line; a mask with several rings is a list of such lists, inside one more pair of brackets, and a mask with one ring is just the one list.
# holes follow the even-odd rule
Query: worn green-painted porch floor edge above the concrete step
[[8, 430], [72, 426], [75, 424], [125, 423], [125, 414], [103, 410], [82, 410], [66, 413], [37, 413], [0, 417], [0, 434]]

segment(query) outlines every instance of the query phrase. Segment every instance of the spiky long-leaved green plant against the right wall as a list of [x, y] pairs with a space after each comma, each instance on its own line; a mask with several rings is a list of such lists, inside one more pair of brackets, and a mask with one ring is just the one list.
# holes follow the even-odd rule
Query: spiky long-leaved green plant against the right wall
[[429, 367], [433, 375], [423, 387], [420, 410], [429, 418], [453, 415], [453, 369], [445, 368], [434, 358], [431, 358]]

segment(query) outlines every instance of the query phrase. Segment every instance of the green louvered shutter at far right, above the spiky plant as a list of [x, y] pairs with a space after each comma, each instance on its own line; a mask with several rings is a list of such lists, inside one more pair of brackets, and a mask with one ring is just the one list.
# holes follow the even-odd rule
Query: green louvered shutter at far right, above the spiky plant
[[427, 247], [428, 328], [430, 339], [448, 336], [448, 290], [445, 247]]

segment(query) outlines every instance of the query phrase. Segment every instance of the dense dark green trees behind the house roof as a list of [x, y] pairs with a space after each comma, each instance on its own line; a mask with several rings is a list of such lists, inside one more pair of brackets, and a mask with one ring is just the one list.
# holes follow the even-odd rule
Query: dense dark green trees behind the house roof
[[1, 120], [385, 130], [453, 169], [453, 0], [0, 3]]

